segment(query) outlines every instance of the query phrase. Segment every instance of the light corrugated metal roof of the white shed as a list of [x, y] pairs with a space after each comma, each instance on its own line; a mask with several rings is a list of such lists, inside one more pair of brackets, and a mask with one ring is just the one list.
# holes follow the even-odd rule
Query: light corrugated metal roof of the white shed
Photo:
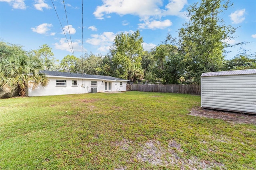
[[201, 77], [221, 76], [221, 75], [244, 75], [244, 74], [256, 74], [256, 69], [202, 73]]

